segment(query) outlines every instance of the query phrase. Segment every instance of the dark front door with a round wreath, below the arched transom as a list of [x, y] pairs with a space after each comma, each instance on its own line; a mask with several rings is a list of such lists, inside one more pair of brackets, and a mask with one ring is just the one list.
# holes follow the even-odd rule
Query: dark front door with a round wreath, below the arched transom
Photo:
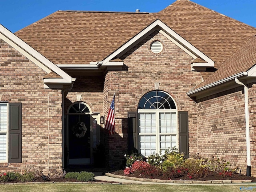
[[68, 164], [91, 163], [90, 115], [68, 115]]

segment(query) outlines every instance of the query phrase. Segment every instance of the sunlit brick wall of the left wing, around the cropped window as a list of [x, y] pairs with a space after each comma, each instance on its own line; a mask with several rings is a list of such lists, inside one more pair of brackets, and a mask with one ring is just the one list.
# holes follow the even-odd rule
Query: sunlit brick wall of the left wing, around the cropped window
[[61, 170], [62, 93], [44, 89], [41, 68], [0, 39], [0, 98], [22, 103], [22, 163], [0, 164], [0, 172]]

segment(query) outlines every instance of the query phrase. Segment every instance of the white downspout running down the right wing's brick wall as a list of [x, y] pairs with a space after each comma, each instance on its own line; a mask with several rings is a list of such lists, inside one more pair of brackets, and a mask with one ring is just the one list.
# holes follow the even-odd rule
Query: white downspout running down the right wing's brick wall
[[246, 129], [246, 154], [247, 169], [246, 176], [251, 176], [251, 152], [250, 152], [250, 127], [249, 127], [249, 104], [248, 104], [248, 87], [235, 78], [237, 84], [244, 86], [244, 110], [245, 110], [245, 129]]

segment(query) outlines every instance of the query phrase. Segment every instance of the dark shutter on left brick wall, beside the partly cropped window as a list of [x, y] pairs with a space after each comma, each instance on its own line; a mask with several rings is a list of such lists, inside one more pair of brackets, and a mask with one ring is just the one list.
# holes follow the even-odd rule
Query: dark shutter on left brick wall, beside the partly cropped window
[[21, 103], [9, 103], [9, 163], [21, 163]]

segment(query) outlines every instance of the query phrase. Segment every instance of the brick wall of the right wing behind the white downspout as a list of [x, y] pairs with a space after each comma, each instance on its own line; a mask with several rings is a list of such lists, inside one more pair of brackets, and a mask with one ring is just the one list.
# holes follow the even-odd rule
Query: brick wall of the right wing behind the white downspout
[[[252, 175], [255, 168], [255, 86], [249, 89]], [[242, 86], [198, 100], [198, 152], [218, 156], [246, 174], [246, 128]]]

